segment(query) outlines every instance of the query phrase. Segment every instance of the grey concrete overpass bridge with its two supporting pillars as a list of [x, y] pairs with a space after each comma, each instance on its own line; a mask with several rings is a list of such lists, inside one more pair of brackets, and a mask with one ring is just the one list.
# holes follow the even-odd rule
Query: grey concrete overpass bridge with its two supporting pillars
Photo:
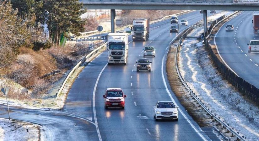
[[[87, 9], [111, 9], [111, 32], [115, 32], [115, 9], [122, 10], [203, 10], [207, 35], [207, 10], [259, 11], [259, 0], [79, 0]], [[206, 39], [204, 39], [206, 40]]]

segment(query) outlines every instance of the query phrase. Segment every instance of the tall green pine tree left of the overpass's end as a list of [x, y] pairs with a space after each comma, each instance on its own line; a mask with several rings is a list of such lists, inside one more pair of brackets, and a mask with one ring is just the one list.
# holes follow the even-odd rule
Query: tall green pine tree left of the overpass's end
[[78, 0], [44, 0], [43, 9], [45, 19], [50, 31], [50, 39], [59, 45], [60, 37], [64, 34], [68, 38], [68, 32], [79, 35], [84, 31], [84, 21], [79, 17], [86, 10], [81, 10], [82, 3]]

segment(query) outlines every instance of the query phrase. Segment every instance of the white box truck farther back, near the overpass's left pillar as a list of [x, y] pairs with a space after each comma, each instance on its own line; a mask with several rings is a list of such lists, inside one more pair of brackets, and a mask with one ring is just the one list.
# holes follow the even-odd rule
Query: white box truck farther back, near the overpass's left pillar
[[132, 26], [132, 40], [144, 40], [149, 38], [149, 18], [135, 18]]

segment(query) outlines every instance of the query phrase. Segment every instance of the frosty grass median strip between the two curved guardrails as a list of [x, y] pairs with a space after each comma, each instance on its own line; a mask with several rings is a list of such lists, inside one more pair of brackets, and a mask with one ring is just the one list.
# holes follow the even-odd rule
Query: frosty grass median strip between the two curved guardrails
[[197, 39], [185, 39], [179, 60], [184, 79], [208, 108], [247, 140], [259, 140], [258, 107], [222, 78]]

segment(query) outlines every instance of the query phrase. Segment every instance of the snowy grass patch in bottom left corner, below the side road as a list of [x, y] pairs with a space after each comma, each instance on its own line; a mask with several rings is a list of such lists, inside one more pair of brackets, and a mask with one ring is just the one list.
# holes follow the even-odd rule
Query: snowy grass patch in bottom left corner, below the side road
[[[30, 138], [26, 132], [28, 127]], [[40, 140], [40, 126], [37, 124], [0, 118], [1, 141], [35, 141]]]

